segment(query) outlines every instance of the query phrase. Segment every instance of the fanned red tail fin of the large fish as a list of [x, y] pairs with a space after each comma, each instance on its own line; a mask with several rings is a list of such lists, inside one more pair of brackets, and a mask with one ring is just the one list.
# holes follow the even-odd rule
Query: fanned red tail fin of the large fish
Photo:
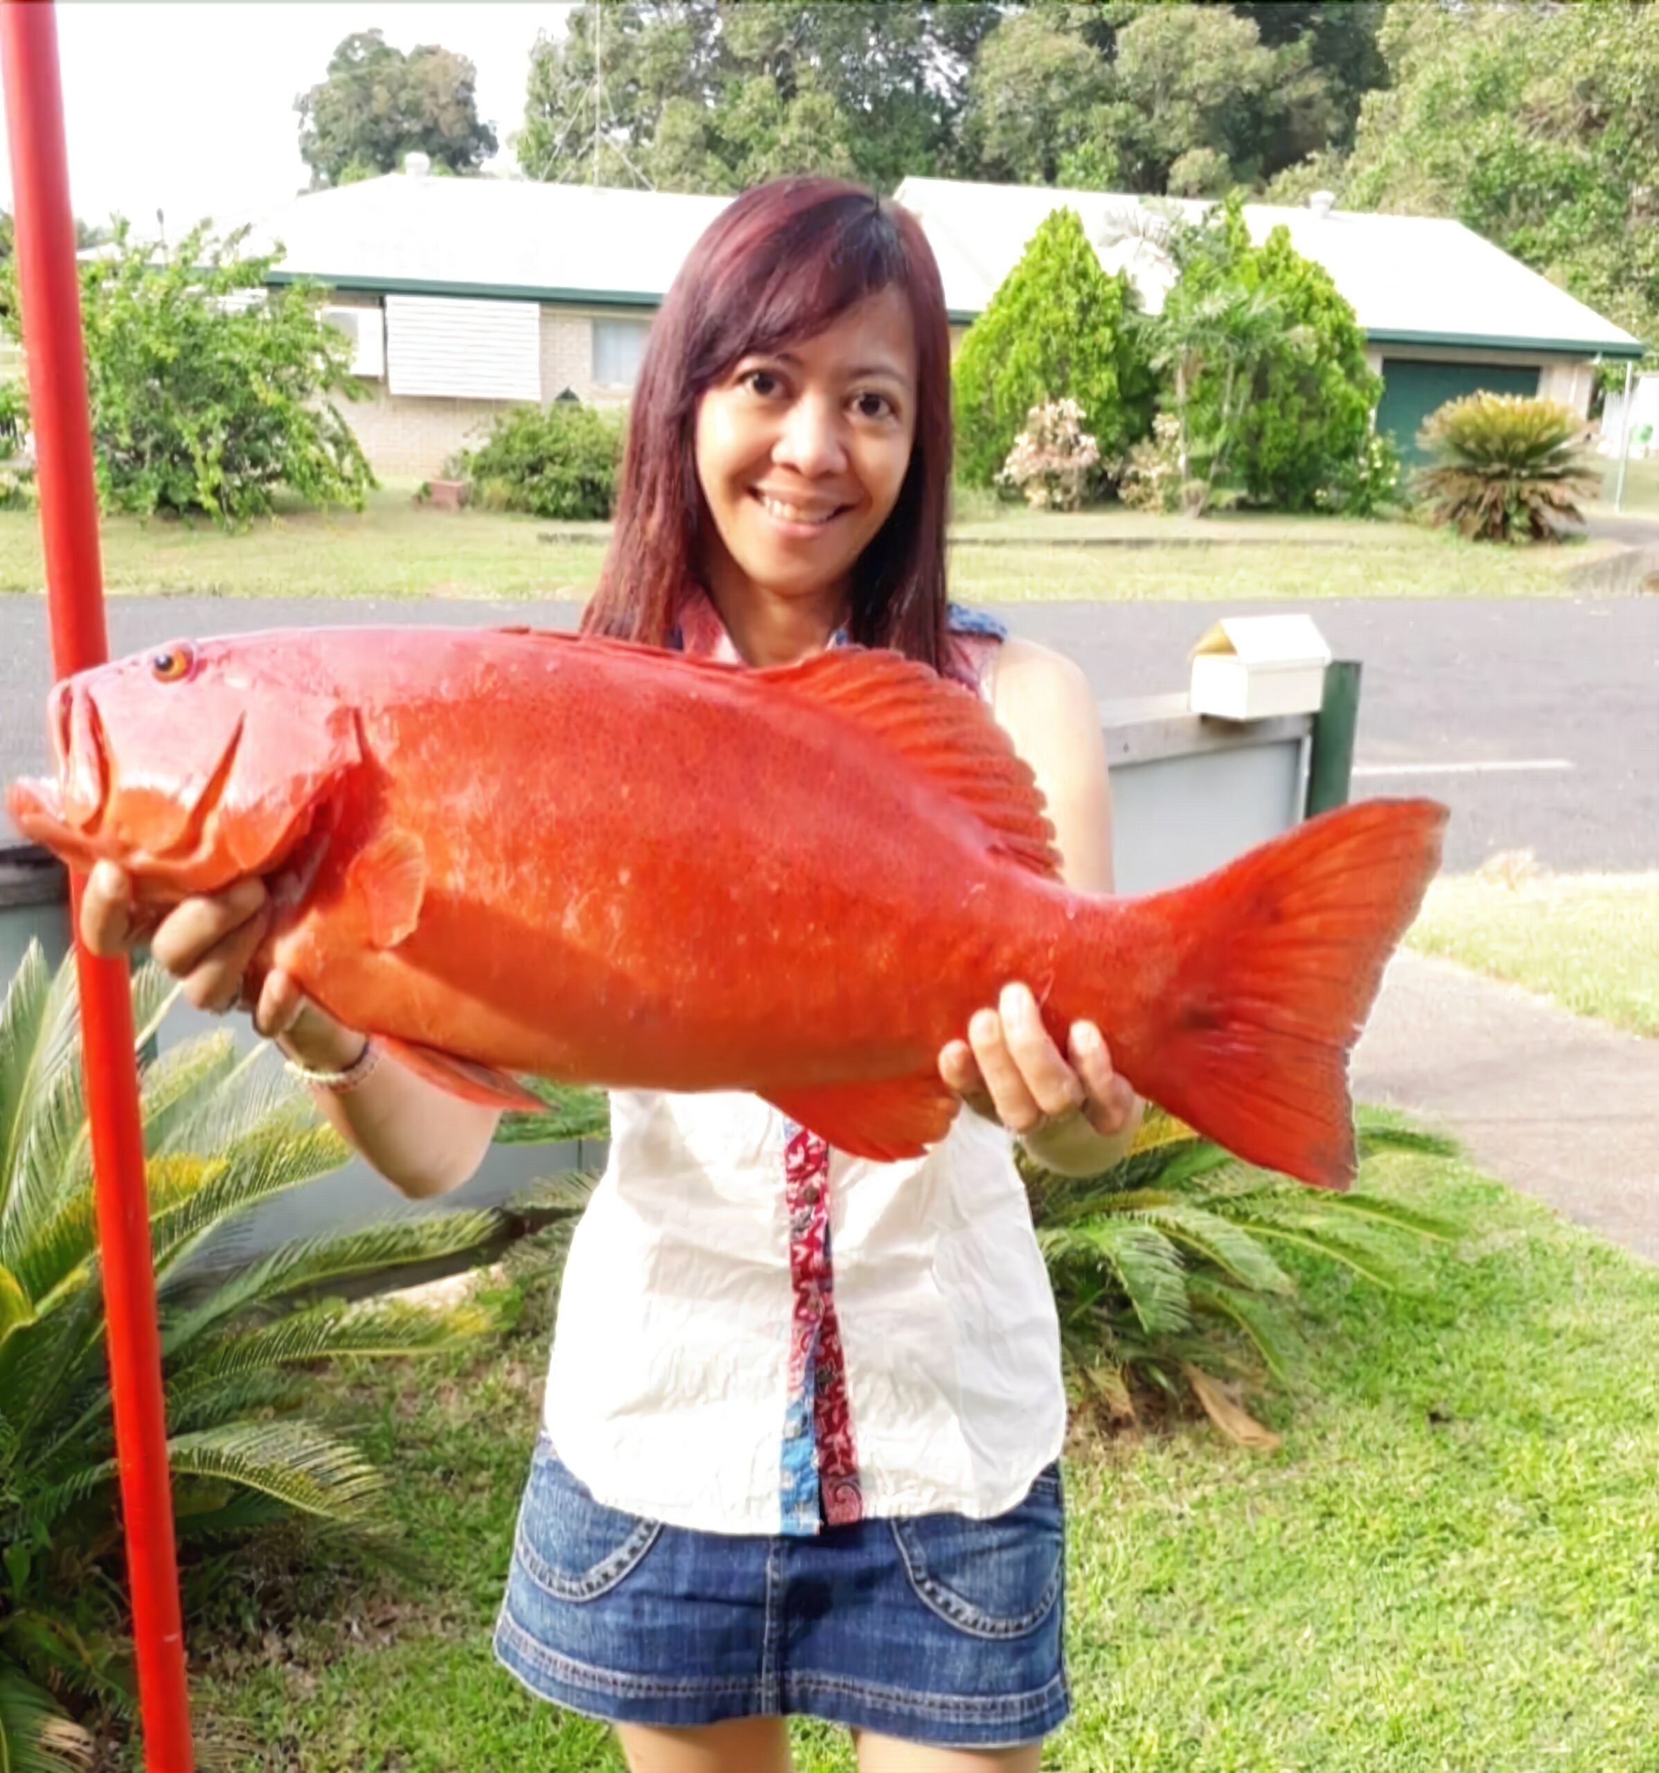
[[1131, 1037], [1113, 1035], [1124, 1076], [1248, 1163], [1347, 1188], [1349, 1050], [1439, 867], [1445, 824], [1432, 800], [1368, 800], [1120, 904], [1118, 952], [1157, 980]]

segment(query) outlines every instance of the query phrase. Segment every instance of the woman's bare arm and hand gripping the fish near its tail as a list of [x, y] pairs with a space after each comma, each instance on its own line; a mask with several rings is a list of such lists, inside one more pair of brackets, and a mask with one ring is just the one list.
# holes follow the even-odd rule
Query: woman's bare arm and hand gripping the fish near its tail
[[[1083, 672], [1030, 640], [1007, 640], [996, 663], [994, 715], [1032, 766], [1048, 801], [1060, 872], [1079, 892], [1111, 892], [1111, 785], [1094, 691]], [[978, 1011], [939, 1071], [980, 1112], [1012, 1128], [1046, 1168], [1094, 1175], [1127, 1152], [1141, 1105], [1111, 1069], [1094, 1023], [1076, 1023], [1065, 1053], [1042, 1027], [1024, 984]]]

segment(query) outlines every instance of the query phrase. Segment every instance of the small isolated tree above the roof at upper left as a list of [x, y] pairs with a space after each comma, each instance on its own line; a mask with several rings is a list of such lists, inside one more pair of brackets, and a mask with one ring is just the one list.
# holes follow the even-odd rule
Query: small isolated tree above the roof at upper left
[[353, 32], [328, 78], [294, 99], [312, 184], [395, 172], [415, 149], [436, 167], [475, 172], [496, 151], [495, 129], [479, 121], [475, 82], [477, 69], [454, 50], [422, 44], [404, 55], [378, 30]]

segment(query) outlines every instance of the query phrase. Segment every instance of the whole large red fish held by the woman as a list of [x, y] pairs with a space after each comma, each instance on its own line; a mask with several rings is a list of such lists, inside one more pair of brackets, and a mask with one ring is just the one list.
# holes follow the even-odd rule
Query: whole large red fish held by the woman
[[943, 1136], [939, 1048], [1012, 979], [1253, 1163], [1354, 1174], [1347, 1051], [1446, 810], [1368, 801], [1172, 892], [1055, 872], [1030, 769], [890, 652], [744, 670], [530, 631], [177, 644], [51, 695], [18, 826], [165, 904], [264, 876], [255, 973], [456, 1094], [746, 1089], [842, 1151]]

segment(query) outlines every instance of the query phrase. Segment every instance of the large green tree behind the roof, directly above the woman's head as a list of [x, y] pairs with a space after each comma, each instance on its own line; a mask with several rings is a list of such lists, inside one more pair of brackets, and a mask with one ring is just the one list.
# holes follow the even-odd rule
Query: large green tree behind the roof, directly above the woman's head
[[597, 152], [601, 184], [736, 191], [840, 172], [892, 190], [954, 170], [968, 69], [994, 18], [982, 4], [588, 0], [562, 37], [537, 39], [518, 161], [564, 183], [592, 179]]

